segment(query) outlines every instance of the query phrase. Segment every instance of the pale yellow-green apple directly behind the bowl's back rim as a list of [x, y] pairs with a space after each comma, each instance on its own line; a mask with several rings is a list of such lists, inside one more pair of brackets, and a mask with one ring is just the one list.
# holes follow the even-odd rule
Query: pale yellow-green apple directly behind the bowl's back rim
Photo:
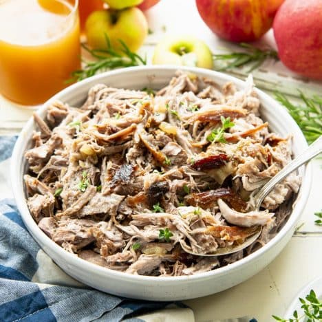
[[213, 68], [213, 55], [209, 47], [193, 36], [169, 36], [156, 45], [154, 65], [189, 65]]

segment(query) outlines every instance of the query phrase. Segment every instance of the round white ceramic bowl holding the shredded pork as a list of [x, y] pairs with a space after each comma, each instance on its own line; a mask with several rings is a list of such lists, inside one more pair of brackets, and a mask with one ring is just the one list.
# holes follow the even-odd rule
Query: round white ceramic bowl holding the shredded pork
[[[62, 100], [69, 105], [79, 106], [85, 100], [90, 87], [97, 83], [105, 83], [113, 87], [123, 87], [129, 89], [142, 89], [142, 87], [151, 87], [159, 89], [169, 83], [171, 77], [175, 74], [178, 67], [160, 66], [160, 67], [129, 67], [127, 69], [118, 69], [113, 72], [106, 72], [85, 81], [76, 83], [62, 92], [56, 94], [39, 109], [39, 115], [45, 116], [47, 106], [54, 100]], [[237, 78], [226, 74], [213, 72], [208, 69], [193, 67], [180, 67], [191, 71], [198, 76], [212, 78], [219, 84], [233, 81], [238, 88], [243, 88], [245, 83]], [[299, 154], [308, 147], [305, 138], [297, 124], [292, 120], [287, 111], [283, 109], [275, 100], [267, 94], [257, 90], [261, 100], [261, 116], [270, 124], [270, 129], [281, 136], [292, 134], [294, 155]], [[262, 270], [270, 261], [272, 261], [286, 246], [290, 240], [299, 216], [303, 211], [308, 195], [310, 193], [311, 169], [301, 167], [299, 173], [302, 176], [302, 184], [299, 195], [294, 203], [294, 210], [290, 219], [286, 222], [281, 231], [268, 242], [264, 247], [255, 251], [253, 254], [228, 266], [204, 272], [198, 275], [182, 277], [148, 277], [129, 275], [124, 272], [109, 270], [100, 266], [91, 264], [76, 255], [68, 253], [60, 246], [54, 243], [39, 227], [30, 215], [25, 202], [25, 191], [23, 186], [23, 173], [27, 169], [27, 162], [24, 158], [25, 151], [31, 145], [32, 130], [34, 121], [30, 119], [21, 131], [14, 147], [12, 155], [12, 189], [17, 206], [25, 226], [43, 248], [45, 253], [61, 266], [67, 274], [75, 279], [112, 294], [123, 297], [132, 297], [136, 299], [172, 301], [192, 299], [213, 294], [245, 281], [257, 272]], [[281, 268], [283, 269], [283, 268]]]

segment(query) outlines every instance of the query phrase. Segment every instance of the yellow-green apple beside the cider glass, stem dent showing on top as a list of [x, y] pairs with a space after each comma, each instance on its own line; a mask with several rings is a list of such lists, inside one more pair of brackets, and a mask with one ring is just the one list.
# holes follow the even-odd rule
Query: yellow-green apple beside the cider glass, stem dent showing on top
[[120, 52], [122, 47], [119, 40], [122, 40], [132, 52], [136, 52], [144, 42], [147, 33], [147, 19], [136, 7], [94, 11], [85, 24], [87, 43], [94, 49], [106, 47], [106, 35], [114, 50]]

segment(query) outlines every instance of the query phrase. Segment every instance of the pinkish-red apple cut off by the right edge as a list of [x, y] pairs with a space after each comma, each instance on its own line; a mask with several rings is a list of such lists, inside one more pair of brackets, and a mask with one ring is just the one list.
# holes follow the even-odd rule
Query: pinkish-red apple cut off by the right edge
[[322, 79], [322, 1], [286, 0], [273, 29], [281, 61], [294, 72]]

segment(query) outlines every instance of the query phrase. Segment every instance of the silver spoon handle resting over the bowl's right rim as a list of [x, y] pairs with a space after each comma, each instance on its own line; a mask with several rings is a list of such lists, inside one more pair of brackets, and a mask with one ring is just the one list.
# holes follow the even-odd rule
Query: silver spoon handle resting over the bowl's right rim
[[322, 136], [320, 136], [317, 140], [315, 140], [308, 149], [306, 149], [303, 153], [297, 156], [294, 160], [292, 160], [289, 164], [286, 165], [279, 173], [277, 173], [272, 179], [270, 179], [253, 197], [253, 204], [255, 209], [259, 210], [261, 206], [261, 202], [263, 202], [264, 198], [272, 189], [274, 189], [275, 185], [278, 184], [281, 180], [286, 178], [290, 173], [292, 173], [297, 168], [301, 167], [302, 164], [310, 161], [316, 155], [322, 152]]

